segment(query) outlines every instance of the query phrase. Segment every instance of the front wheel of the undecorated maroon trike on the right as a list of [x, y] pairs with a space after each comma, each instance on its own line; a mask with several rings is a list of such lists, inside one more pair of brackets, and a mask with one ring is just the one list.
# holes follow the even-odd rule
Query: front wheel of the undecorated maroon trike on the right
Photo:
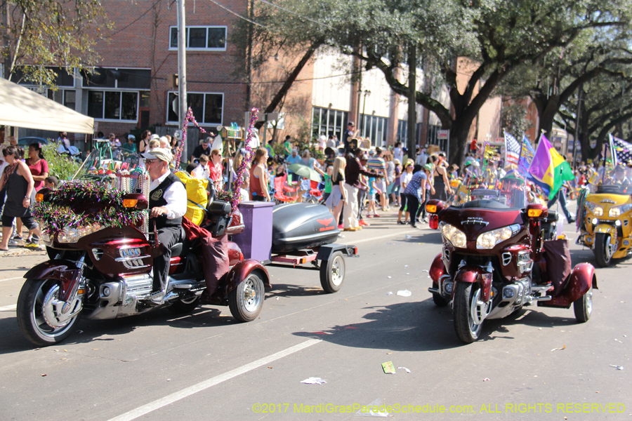
[[454, 330], [460, 340], [470, 344], [480, 335], [487, 305], [480, 301], [478, 283], [457, 282], [454, 288]]

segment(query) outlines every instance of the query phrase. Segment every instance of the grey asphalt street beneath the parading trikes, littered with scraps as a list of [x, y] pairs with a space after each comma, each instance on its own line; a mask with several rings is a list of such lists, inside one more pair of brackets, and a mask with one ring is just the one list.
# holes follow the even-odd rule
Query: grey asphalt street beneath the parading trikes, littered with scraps
[[[0, 258], [0, 420], [631, 419], [632, 260], [597, 269], [588, 323], [572, 309], [527, 307], [463, 345], [449, 307], [427, 291], [440, 234], [395, 218], [345, 233], [360, 258], [345, 260], [338, 293], [324, 293], [315, 270], [270, 267], [251, 323], [228, 307], [159, 309], [81, 321], [41, 349], [22, 337], [15, 300], [45, 256]], [[573, 263], [594, 264], [574, 226], [564, 231]], [[388, 361], [395, 374], [383, 372]], [[301, 383], [309, 377], [327, 383]]]

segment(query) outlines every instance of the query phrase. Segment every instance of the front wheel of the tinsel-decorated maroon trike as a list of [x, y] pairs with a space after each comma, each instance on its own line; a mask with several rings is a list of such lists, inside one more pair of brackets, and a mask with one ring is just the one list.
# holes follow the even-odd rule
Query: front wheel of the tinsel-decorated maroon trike
[[75, 302], [74, 308], [63, 313], [58, 295], [58, 281], [52, 279], [27, 279], [20, 290], [18, 326], [35, 345], [46, 347], [65, 340], [81, 319], [81, 313], [72, 316], [81, 304]]

